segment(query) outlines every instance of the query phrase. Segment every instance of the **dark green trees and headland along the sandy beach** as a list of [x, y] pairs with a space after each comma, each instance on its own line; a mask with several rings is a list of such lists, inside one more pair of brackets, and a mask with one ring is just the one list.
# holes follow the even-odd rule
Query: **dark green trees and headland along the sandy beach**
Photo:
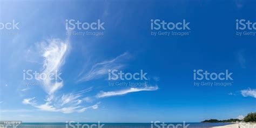
[[256, 122], [256, 112], [248, 113], [247, 116], [243, 119], [227, 119], [227, 120], [218, 120], [218, 119], [209, 119], [204, 120], [202, 123], [229, 123], [229, 122]]

